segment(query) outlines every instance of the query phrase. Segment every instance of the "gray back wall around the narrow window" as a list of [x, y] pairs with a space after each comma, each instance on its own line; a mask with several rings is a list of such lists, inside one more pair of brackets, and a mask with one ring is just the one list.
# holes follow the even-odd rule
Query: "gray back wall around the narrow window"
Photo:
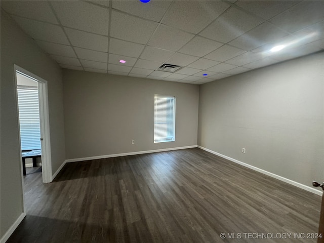
[[[197, 145], [197, 85], [67, 69], [63, 80], [67, 158]], [[176, 96], [174, 142], [153, 143], [154, 94]]]

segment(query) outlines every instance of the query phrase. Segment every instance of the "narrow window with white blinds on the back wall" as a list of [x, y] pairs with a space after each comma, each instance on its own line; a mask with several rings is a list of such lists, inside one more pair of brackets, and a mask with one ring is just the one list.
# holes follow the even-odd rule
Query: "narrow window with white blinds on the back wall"
[[175, 141], [176, 97], [154, 95], [154, 143]]

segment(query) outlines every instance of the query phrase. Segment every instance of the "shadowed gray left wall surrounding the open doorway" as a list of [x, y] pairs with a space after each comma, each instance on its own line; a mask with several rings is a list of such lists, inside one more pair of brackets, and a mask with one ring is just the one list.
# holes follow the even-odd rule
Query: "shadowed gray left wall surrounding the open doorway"
[[23, 212], [14, 64], [48, 81], [53, 173], [65, 159], [61, 69], [1, 11], [0, 237]]

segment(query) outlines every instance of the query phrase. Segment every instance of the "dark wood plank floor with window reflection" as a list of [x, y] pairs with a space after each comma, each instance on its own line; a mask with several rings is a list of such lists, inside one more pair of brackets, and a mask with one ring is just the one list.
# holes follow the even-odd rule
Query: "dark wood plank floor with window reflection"
[[7, 242], [316, 242], [249, 238], [317, 232], [321, 197], [198, 148], [69, 163], [50, 184], [25, 183], [27, 216]]

